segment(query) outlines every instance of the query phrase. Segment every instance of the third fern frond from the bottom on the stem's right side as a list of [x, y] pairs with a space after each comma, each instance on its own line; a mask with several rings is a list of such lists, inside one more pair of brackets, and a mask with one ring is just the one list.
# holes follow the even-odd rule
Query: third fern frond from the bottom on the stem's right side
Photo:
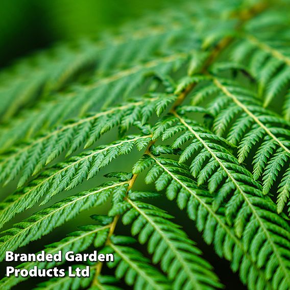
[[139, 173], [152, 166], [147, 173], [146, 183], [154, 182], [158, 191], [165, 190], [169, 200], [176, 199], [180, 209], [187, 209], [189, 218], [203, 232], [206, 243], [213, 244], [220, 257], [231, 261], [231, 268], [234, 272], [239, 270], [241, 281], [250, 289], [272, 288], [269, 282], [271, 275], [265, 273], [254, 256], [248, 252], [246, 241], [236, 236], [233, 227], [225, 219], [225, 210], [222, 207], [213, 209], [212, 195], [190, 178], [191, 174], [186, 165], [159, 156], [172, 153], [174, 152], [170, 148], [156, 147], [135, 164], [133, 172]]

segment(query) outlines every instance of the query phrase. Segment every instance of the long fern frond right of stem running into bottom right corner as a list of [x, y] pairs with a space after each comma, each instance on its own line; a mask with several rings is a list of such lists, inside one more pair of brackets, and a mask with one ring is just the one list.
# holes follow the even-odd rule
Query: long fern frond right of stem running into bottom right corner
[[[248, 247], [252, 245], [249, 250], [255, 251], [253, 254], [260, 267], [263, 263], [268, 267], [271, 265], [269, 270], [279, 277], [281, 285], [289, 286], [290, 228], [287, 222], [277, 215], [271, 199], [263, 198], [260, 185], [226, 149], [224, 139], [211, 134], [180, 112], [182, 107], [180, 111], [173, 112], [173, 116], [168, 116], [171, 128], [167, 130], [181, 127], [181, 131], [189, 131], [194, 140], [181, 154], [179, 162], [191, 159], [192, 176], [197, 178], [199, 185], [206, 184], [211, 193], [215, 192], [213, 208], [218, 209], [225, 204], [227, 222], [234, 227], [237, 237], [245, 239]], [[166, 130], [162, 136], [163, 139], [171, 137], [167, 136]], [[183, 138], [184, 142], [187, 140], [187, 137]], [[180, 147], [175, 144], [174, 148]], [[257, 239], [259, 244], [256, 244]], [[263, 256], [263, 248], [267, 248], [271, 258]]]

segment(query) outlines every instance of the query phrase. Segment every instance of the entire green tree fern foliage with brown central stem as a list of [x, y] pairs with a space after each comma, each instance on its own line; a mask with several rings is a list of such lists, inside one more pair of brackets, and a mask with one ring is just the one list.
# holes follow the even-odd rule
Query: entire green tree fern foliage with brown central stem
[[2, 267], [33, 245], [114, 261], [72, 265], [89, 277], [2, 275], [1, 289], [231, 288], [216, 260], [237, 285], [289, 289], [287, 9], [183, 1], [5, 69]]

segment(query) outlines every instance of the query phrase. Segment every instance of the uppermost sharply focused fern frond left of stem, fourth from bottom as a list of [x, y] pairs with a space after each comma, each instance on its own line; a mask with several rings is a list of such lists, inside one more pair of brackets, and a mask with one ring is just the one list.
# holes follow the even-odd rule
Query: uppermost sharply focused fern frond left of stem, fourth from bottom
[[126, 132], [135, 122], [145, 124], [154, 111], [160, 115], [174, 101], [175, 96], [150, 94], [135, 98], [122, 106], [110, 108], [85, 118], [70, 120], [53, 131], [38, 138], [20, 143], [0, 157], [0, 182], [8, 184], [21, 173], [18, 187], [37, 174], [42, 168], [67, 150], [66, 156], [75, 152], [82, 144], [90, 147], [104, 133], [114, 127]]

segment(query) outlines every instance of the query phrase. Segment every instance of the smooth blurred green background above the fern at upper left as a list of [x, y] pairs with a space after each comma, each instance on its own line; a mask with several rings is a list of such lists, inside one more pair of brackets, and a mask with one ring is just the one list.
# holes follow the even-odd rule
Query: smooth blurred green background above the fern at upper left
[[[0, 67], [59, 41], [115, 30], [172, 0], [1, 0]], [[179, 2], [179, 0], [174, 1]]]

